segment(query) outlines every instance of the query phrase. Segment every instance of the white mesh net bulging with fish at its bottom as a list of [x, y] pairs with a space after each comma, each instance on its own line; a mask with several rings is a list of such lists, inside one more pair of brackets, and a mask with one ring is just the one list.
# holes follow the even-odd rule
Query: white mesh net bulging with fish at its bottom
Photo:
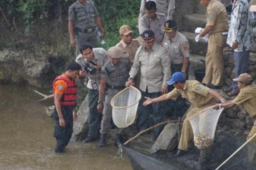
[[224, 108], [215, 110], [212, 107], [207, 107], [188, 119], [193, 129], [194, 143], [198, 149], [205, 149], [213, 143], [217, 122]]

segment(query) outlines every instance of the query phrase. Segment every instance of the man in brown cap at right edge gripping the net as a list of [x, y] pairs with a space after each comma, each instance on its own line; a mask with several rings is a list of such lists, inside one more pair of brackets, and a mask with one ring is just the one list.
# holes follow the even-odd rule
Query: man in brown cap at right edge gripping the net
[[[221, 107], [224, 108], [232, 108], [235, 106], [239, 106], [244, 104], [246, 111], [249, 113], [252, 119], [256, 118], [256, 85], [252, 84], [252, 77], [250, 74], [243, 73], [238, 78], [234, 78], [234, 81], [237, 81], [237, 86], [240, 90], [238, 96], [232, 101], [229, 101], [225, 104], [216, 104], [215, 109], [219, 109]], [[256, 120], [252, 126], [251, 132], [248, 134], [246, 140], [250, 139], [256, 133]], [[254, 137], [251, 142], [256, 143], [256, 137]], [[255, 162], [255, 147], [252, 145], [248, 147], [248, 161], [249, 163]], [[255, 167], [255, 166], [254, 166]]]

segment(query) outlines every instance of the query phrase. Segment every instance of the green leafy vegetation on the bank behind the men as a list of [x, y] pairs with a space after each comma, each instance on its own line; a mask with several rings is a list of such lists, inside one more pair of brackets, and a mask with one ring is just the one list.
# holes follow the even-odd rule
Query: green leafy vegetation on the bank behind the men
[[[36, 18], [47, 20], [63, 15], [66, 19], [68, 6], [74, 2], [75, 0], [2, 0], [0, 12], [7, 23], [6, 27], [11, 30], [16, 27], [14, 20], [22, 18], [24, 33], [29, 35], [33, 32]], [[140, 10], [139, 0], [93, 0], [93, 2], [105, 29], [106, 44], [102, 46], [103, 48], [108, 49], [120, 41], [119, 28], [124, 24], [132, 27], [134, 37], [139, 36], [137, 21]]]

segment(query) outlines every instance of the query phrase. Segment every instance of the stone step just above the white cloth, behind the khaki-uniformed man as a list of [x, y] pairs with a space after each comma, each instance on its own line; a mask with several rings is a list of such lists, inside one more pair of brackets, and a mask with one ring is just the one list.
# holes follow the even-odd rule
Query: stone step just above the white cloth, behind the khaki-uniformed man
[[184, 31], [194, 33], [197, 27], [204, 28], [206, 25], [206, 16], [204, 14], [187, 14], [183, 16]]

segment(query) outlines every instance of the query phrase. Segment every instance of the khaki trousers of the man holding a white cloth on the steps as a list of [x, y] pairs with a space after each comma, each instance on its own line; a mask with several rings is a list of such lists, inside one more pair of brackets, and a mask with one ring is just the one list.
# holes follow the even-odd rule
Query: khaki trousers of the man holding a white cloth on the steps
[[217, 86], [223, 85], [223, 47], [226, 44], [227, 36], [220, 33], [211, 33], [208, 40], [208, 49], [205, 57], [205, 77], [203, 83]]

